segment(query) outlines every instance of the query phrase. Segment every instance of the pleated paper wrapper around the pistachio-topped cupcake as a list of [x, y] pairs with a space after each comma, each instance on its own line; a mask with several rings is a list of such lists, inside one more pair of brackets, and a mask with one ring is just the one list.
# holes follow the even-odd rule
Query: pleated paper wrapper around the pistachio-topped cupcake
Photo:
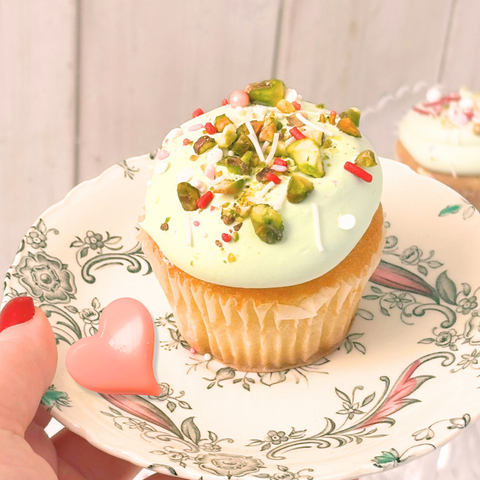
[[[385, 234], [385, 232], [384, 232]], [[343, 342], [362, 292], [380, 262], [383, 241], [362, 275], [351, 275], [295, 304], [274, 301], [241, 305], [209, 284], [192, 282], [169, 270], [169, 262], [141, 231], [139, 240], [172, 307], [184, 339], [198, 353], [210, 353], [241, 371], [271, 372], [314, 363]]]

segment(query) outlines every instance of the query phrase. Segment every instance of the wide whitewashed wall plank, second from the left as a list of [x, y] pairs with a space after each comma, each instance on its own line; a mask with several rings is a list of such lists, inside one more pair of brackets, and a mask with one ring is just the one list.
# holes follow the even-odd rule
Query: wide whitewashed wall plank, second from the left
[[279, 0], [84, 0], [80, 180], [272, 75]]

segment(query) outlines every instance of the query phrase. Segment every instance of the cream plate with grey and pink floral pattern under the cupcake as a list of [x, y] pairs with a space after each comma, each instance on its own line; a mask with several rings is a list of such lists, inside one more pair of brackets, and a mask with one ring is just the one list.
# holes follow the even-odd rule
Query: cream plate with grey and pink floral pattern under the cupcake
[[[458, 194], [382, 161], [384, 256], [343, 345], [314, 365], [245, 373], [191, 354], [139, 248], [149, 157], [75, 188], [27, 232], [5, 300], [48, 315], [58, 371], [43, 398], [99, 448], [180, 477], [343, 479], [438, 448], [480, 412], [480, 215]], [[65, 354], [116, 298], [156, 325], [158, 397], [77, 385]]]

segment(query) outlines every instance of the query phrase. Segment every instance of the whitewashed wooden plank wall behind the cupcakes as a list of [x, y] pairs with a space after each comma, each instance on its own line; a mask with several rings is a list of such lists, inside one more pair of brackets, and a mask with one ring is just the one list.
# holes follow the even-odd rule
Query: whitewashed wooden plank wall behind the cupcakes
[[479, 19], [478, 0], [0, 0], [0, 277], [75, 184], [252, 81], [370, 112], [392, 156], [422, 85], [480, 90]]

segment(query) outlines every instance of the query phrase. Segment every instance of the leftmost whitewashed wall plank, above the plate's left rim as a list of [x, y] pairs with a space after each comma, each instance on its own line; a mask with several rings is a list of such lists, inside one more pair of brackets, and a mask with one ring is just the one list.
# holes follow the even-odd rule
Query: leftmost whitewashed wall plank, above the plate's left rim
[[76, 0], [0, 0], [0, 276], [73, 186]]

